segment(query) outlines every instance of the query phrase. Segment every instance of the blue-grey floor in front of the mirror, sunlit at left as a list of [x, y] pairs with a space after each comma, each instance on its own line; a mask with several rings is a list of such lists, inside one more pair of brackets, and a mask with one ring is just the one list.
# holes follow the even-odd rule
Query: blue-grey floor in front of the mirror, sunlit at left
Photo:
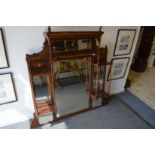
[[[73, 97], [74, 98], [74, 97]], [[75, 98], [76, 99], [76, 98]], [[80, 103], [80, 101], [75, 100]], [[18, 123], [5, 129], [28, 129], [31, 121]], [[152, 127], [128, 108], [119, 99], [112, 96], [103, 107], [81, 113], [63, 121], [48, 124], [43, 129], [151, 129]]]

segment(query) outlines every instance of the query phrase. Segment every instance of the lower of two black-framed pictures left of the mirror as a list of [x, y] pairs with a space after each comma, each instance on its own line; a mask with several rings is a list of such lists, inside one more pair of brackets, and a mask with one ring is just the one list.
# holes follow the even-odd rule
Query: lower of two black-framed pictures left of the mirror
[[0, 74], [0, 105], [17, 101], [12, 73]]

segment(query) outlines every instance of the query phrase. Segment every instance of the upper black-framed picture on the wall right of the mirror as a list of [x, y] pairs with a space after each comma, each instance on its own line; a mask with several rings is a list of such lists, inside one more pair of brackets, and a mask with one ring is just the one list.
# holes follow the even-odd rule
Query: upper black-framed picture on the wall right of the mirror
[[136, 33], [135, 29], [118, 30], [115, 49], [114, 49], [114, 56], [129, 55], [131, 53], [132, 45], [135, 38], [135, 33]]

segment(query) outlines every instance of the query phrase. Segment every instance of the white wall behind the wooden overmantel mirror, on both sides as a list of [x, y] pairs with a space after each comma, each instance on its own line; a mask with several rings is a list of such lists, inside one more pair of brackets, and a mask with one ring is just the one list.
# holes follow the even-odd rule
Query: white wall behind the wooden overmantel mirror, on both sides
[[[10, 68], [1, 69], [0, 73], [12, 72], [15, 82], [18, 101], [0, 105], [0, 127], [25, 121], [32, 118], [33, 103], [25, 61], [25, 54], [37, 52], [42, 49], [44, 42], [43, 32], [47, 31], [47, 27], [2, 27], [4, 31], [4, 39], [7, 48]], [[132, 58], [140, 27], [103, 27], [104, 35], [102, 37], [102, 45], [107, 44], [109, 53], [108, 60], [111, 60], [114, 52], [116, 36], [118, 29], [137, 29], [135, 41], [133, 44], [130, 57]], [[52, 27], [53, 31], [64, 30], [98, 30], [99, 27]], [[131, 60], [130, 60], [131, 64]], [[129, 70], [129, 66], [128, 66]], [[127, 74], [128, 74], [127, 70]], [[111, 93], [124, 91], [126, 76], [123, 79], [113, 80], [111, 84]]]

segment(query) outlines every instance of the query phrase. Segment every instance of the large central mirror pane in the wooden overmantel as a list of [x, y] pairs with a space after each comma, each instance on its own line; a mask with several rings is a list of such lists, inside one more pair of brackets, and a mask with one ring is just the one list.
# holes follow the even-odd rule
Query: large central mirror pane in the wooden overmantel
[[55, 64], [55, 97], [57, 117], [89, 107], [88, 69], [85, 59], [58, 61]]

